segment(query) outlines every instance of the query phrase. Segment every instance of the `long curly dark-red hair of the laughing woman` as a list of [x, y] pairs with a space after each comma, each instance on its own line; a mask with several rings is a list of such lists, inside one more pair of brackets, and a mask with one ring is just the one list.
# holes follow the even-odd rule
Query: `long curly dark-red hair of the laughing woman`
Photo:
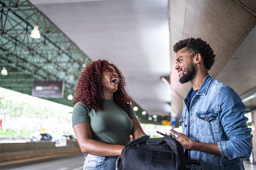
[[72, 103], [74, 106], [77, 102], [83, 102], [86, 107], [92, 108], [95, 111], [98, 109], [103, 110], [104, 91], [101, 81], [101, 75], [103, 71], [112, 66], [119, 77], [118, 88], [113, 94], [113, 100], [121, 108], [129, 112], [131, 109], [132, 99], [125, 91], [125, 80], [121, 72], [113, 63], [109, 63], [106, 60], [98, 60], [88, 63], [80, 71], [80, 76], [77, 80], [77, 86], [75, 90], [75, 98]]

